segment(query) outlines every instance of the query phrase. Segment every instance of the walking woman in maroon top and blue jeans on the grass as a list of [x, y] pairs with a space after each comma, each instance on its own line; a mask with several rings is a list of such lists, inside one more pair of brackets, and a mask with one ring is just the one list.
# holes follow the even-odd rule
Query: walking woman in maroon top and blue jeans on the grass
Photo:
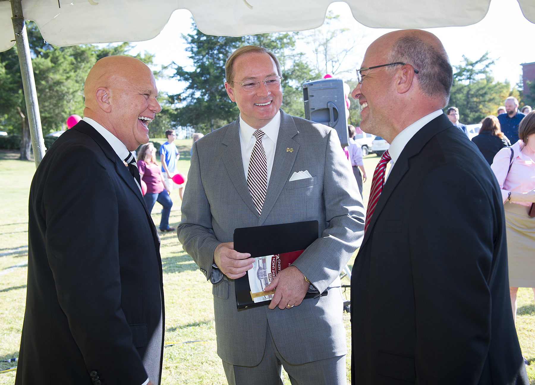
[[164, 177], [160, 171], [160, 166], [156, 163], [156, 149], [154, 144], [143, 144], [137, 153], [137, 168], [143, 182], [147, 184], [147, 193], [143, 196], [149, 212], [156, 201], [163, 206], [162, 219], [160, 220], [160, 230], [173, 231], [174, 227], [169, 227], [169, 214], [173, 202], [169, 196], [169, 191], [163, 183]]

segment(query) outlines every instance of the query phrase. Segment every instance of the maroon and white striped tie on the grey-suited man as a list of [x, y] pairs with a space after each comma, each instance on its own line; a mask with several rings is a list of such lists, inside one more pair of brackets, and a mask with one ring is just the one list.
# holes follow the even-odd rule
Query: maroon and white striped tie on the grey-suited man
[[262, 145], [262, 137], [265, 133], [262, 130], [256, 130], [254, 133], [256, 137], [255, 147], [249, 160], [249, 170], [247, 172], [247, 187], [253, 197], [253, 202], [258, 211], [258, 215], [262, 212], [262, 206], [266, 198], [266, 191], [268, 190], [268, 163], [266, 161], [266, 153]]

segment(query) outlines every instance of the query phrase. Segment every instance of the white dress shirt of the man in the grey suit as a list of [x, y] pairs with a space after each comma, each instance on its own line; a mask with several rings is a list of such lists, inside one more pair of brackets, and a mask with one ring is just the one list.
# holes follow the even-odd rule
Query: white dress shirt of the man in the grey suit
[[[253, 135], [256, 131], [253, 127], [249, 126], [242, 118], [240, 114], [240, 145], [241, 145], [241, 158], [243, 160], [243, 171], [245, 173], [245, 180], [247, 180], [247, 172], [249, 170], [249, 160], [251, 154], [255, 148], [256, 136]], [[280, 127], [280, 111], [270, 120], [268, 124], [261, 128], [265, 133], [262, 137], [262, 147], [266, 153], [266, 163], [268, 167], [268, 186], [271, 176], [271, 169], [273, 168], [273, 159], [275, 158], [275, 147], [277, 145], [277, 138], [279, 137]]]

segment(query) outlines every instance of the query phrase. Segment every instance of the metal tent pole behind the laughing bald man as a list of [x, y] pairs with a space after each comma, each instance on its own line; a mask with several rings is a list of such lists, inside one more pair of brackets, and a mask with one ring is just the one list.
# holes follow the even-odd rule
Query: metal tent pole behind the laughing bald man
[[34, 151], [35, 167], [39, 166], [44, 157], [43, 130], [41, 129], [41, 116], [39, 114], [39, 103], [37, 103], [37, 91], [35, 90], [35, 80], [33, 76], [32, 57], [28, 45], [28, 35], [22, 14], [21, 0], [11, 1], [11, 13], [13, 17], [13, 30], [15, 41], [17, 42], [17, 53], [19, 55], [20, 73], [22, 75], [22, 87], [24, 88], [24, 98], [26, 99], [26, 111], [30, 126], [30, 136], [32, 136], [32, 147]]

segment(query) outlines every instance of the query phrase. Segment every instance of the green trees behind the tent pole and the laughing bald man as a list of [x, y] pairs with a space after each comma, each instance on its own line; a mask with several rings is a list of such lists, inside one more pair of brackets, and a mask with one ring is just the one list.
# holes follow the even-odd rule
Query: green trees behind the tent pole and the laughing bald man
[[[55, 47], [43, 40], [34, 22], [27, 22], [27, 32], [43, 135], [64, 128], [71, 114], [83, 114], [83, 85], [98, 59], [128, 55], [133, 48], [129, 43], [104, 48], [96, 45]], [[152, 64], [153, 56], [147, 52], [135, 57]], [[26, 131], [28, 121], [16, 47], [0, 52], [0, 99], [0, 125], [10, 134], [21, 135], [21, 159], [27, 159], [30, 143], [24, 138], [29, 133]]]

